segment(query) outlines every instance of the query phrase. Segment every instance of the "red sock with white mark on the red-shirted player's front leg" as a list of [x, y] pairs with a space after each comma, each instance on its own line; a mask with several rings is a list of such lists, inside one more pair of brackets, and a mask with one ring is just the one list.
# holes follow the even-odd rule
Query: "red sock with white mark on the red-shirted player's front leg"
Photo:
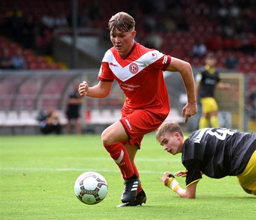
[[116, 162], [118, 165], [123, 178], [125, 179], [133, 176], [134, 171], [132, 168], [132, 163], [123, 143], [114, 143], [113, 145], [104, 147], [106, 148], [107, 152], [109, 152], [114, 162]]

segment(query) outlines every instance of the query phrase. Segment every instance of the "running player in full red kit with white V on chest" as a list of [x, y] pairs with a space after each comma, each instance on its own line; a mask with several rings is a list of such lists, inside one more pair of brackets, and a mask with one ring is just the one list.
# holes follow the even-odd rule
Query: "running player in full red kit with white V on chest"
[[197, 113], [190, 64], [136, 43], [134, 28], [134, 19], [125, 12], [111, 17], [109, 30], [113, 47], [102, 60], [99, 83], [89, 87], [83, 81], [78, 88], [81, 97], [105, 98], [115, 79], [126, 96], [121, 110], [122, 118], [102, 133], [103, 146], [117, 163], [124, 178], [125, 188], [121, 197], [124, 204], [119, 207], [146, 202], [134, 157], [143, 136], [156, 130], [170, 112], [163, 71], [180, 72], [183, 78], [187, 92], [187, 104], [182, 112], [185, 122]]

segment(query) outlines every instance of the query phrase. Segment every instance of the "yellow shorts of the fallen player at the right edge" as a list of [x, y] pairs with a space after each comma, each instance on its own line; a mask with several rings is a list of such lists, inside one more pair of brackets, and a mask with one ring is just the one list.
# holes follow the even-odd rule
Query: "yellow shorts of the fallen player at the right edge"
[[241, 187], [248, 190], [256, 190], [256, 150], [251, 156], [245, 170], [237, 175]]

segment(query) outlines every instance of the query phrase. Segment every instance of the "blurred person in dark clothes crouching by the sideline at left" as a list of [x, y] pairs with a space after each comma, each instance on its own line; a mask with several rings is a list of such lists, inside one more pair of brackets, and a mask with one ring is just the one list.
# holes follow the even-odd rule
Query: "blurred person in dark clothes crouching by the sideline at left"
[[36, 119], [39, 121], [42, 134], [61, 134], [59, 116], [52, 107], [49, 107], [46, 112], [39, 112]]

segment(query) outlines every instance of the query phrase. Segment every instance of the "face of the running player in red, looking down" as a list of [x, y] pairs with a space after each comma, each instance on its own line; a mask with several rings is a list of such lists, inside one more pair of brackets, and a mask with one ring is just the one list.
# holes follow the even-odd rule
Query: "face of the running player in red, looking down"
[[134, 30], [121, 32], [116, 29], [110, 33], [110, 39], [117, 52], [119, 52], [121, 56], [125, 57], [132, 49], [135, 35], [136, 31]]

